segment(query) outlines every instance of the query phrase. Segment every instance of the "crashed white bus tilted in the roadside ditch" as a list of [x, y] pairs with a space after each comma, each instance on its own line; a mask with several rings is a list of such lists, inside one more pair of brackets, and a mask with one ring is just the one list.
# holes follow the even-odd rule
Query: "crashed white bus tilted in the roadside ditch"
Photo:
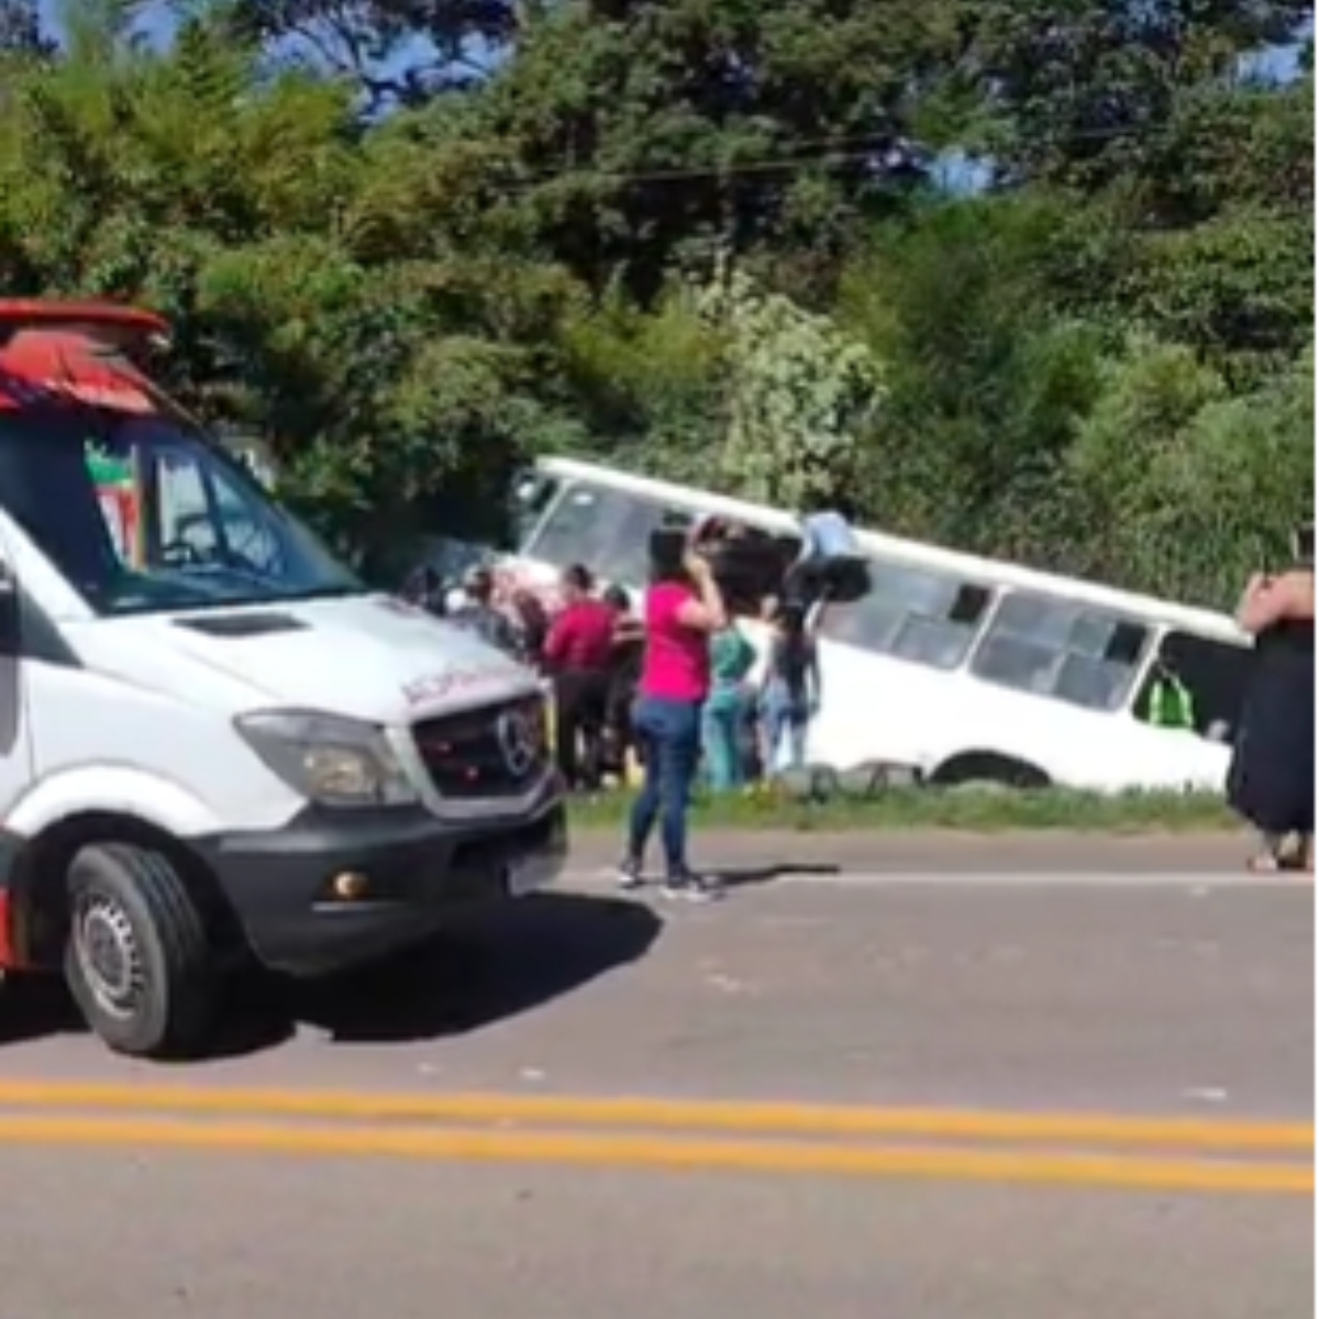
[[[579, 562], [637, 591], [662, 525], [801, 526], [782, 509], [563, 458], [542, 459], [518, 503], [512, 562], [543, 584]], [[1232, 619], [876, 532], [857, 539], [871, 594], [815, 620], [824, 696], [813, 762], [898, 761], [943, 783], [1223, 785], [1250, 663]], [[1151, 720], [1163, 671], [1188, 690], [1194, 728]]]

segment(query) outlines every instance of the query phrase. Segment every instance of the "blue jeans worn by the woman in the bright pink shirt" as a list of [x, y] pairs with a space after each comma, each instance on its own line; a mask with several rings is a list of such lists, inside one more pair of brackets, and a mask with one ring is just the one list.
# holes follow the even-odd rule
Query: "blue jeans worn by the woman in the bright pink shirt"
[[662, 814], [665, 865], [670, 876], [687, 873], [687, 809], [700, 762], [700, 702], [642, 696], [633, 715], [645, 761], [641, 793], [632, 803], [628, 859], [640, 863]]

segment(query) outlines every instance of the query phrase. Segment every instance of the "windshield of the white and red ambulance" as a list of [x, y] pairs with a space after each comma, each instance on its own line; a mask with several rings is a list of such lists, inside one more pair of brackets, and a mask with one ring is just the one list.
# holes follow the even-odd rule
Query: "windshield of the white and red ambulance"
[[363, 590], [241, 463], [175, 415], [0, 410], [0, 506], [103, 616]]

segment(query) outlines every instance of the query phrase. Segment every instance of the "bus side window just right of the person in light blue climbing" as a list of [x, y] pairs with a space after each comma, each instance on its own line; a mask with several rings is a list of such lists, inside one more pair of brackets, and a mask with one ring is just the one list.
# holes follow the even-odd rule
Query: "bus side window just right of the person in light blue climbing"
[[930, 669], [967, 657], [992, 592], [973, 582], [884, 559], [871, 561], [871, 592], [824, 611], [820, 636]]

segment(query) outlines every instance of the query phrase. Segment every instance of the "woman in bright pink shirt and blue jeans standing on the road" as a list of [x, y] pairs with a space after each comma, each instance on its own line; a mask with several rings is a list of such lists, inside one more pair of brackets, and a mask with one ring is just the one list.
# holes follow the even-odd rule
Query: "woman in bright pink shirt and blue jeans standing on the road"
[[645, 781], [632, 805], [619, 880], [624, 888], [644, 882], [646, 844], [660, 819], [662, 892], [703, 901], [718, 897], [720, 889], [687, 861], [687, 811], [700, 762], [702, 708], [710, 694], [710, 638], [728, 625], [728, 613], [700, 555], [687, 550], [677, 562], [666, 562], [656, 550], [653, 545], [645, 657], [633, 715]]

